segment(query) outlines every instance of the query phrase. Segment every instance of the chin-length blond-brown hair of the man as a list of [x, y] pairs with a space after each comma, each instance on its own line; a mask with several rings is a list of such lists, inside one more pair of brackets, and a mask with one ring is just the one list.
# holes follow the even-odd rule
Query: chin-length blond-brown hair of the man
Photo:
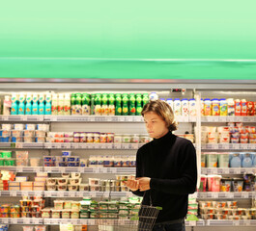
[[141, 115], [144, 116], [149, 112], [154, 112], [156, 115], [161, 116], [170, 131], [177, 130], [178, 123], [174, 118], [173, 110], [166, 102], [162, 100], [150, 101], [143, 107]]

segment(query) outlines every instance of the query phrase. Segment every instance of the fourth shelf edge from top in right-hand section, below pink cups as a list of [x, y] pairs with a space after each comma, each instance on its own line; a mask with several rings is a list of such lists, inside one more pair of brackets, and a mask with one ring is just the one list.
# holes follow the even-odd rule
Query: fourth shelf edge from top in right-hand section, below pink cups
[[256, 192], [198, 192], [198, 199], [254, 198]]

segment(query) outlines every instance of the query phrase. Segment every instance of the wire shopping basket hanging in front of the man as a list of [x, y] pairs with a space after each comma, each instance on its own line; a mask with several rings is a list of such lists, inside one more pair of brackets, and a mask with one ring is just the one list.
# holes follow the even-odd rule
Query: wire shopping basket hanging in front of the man
[[[144, 196], [145, 196], [144, 192]], [[155, 225], [160, 207], [153, 206], [150, 195], [150, 205], [140, 205], [136, 215], [130, 215], [128, 219], [99, 218], [99, 231], [151, 231]]]

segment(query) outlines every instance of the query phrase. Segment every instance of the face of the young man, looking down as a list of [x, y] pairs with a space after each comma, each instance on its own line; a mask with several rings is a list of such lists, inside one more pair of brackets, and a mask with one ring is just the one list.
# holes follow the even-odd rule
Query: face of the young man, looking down
[[169, 131], [166, 122], [154, 112], [144, 114], [144, 121], [151, 138], [159, 139]]

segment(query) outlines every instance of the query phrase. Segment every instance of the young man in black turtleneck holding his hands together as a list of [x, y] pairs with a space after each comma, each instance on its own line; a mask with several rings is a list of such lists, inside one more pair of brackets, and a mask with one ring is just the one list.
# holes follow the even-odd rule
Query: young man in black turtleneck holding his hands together
[[185, 231], [188, 194], [195, 192], [197, 181], [194, 145], [172, 134], [177, 125], [164, 101], [149, 102], [141, 114], [154, 141], [138, 149], [136, 178], [130, 178], [127, 187], [144, 196], [142, 204], [150, 205], [152, 200], [162, 207], [154, 231]]

